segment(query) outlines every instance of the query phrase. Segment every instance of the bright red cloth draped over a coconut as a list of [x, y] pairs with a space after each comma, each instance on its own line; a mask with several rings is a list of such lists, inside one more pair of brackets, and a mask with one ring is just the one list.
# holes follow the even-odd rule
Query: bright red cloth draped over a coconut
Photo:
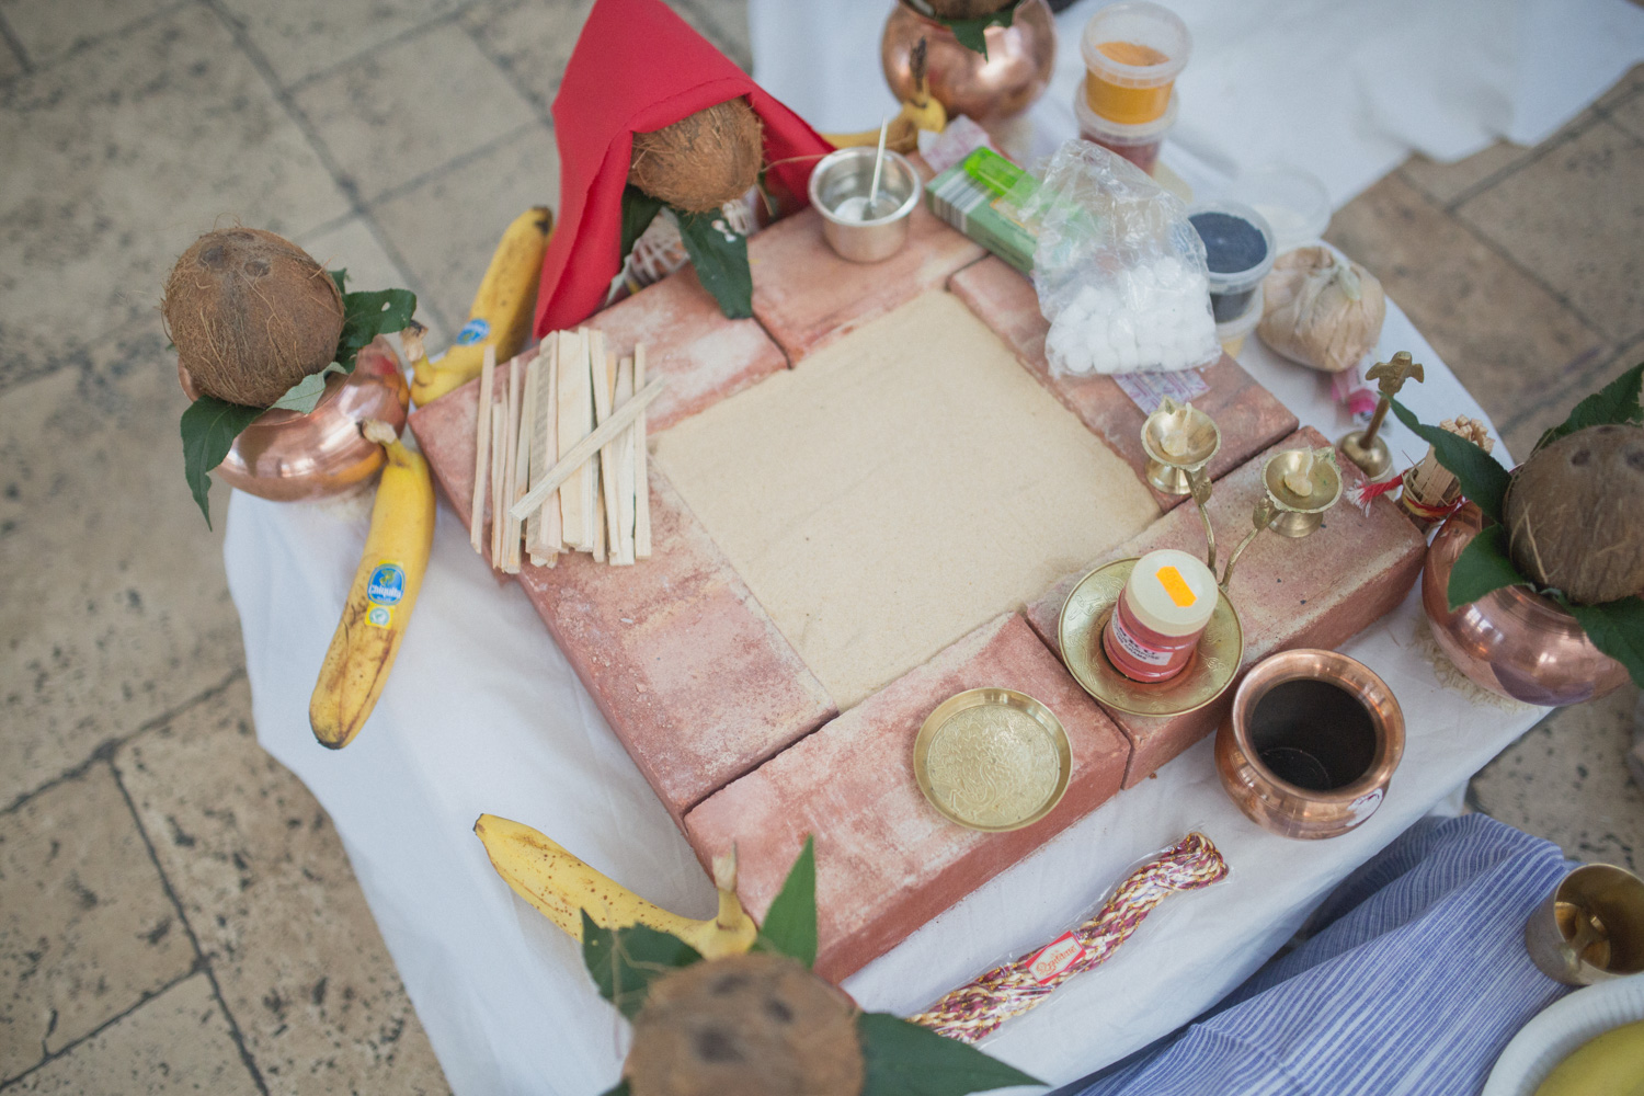
[[737, 95], [746, 95], [764, 122], [768, 182], [806, 204], [810, 169], [832, 145], [661, 0], [593, 5], [554, 97], [561, 207], [536, 292], [538, 337], [585, 320], [621, 266], [621, 192], [633, 135]]

